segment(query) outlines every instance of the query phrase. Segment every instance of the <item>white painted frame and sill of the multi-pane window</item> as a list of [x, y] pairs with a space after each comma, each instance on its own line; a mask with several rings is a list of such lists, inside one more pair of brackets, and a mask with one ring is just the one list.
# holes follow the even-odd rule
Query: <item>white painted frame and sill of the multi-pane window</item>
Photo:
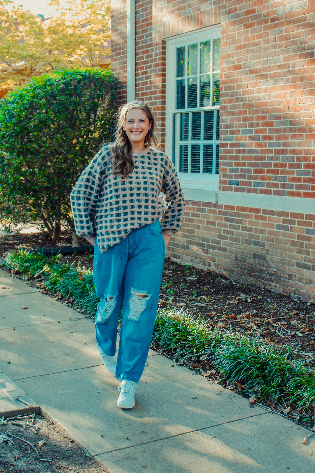
[[[220, 25], [202, 28], [199, 30], [165, 38], [166, 41], [166, 116], [165, 116], [165, 149], [169, 157], [173, 156], [174, 145], [179, 148], [179, 143], [174, 143], [173, 136], [173, 114], [176, 111], [176, 49], [181, 46], [197, 42], [209, 41], [221, 36]], [[206, 110], [219, 110], [219, 105], [185, 109], [185, 112], [196, 112]], [[182, 110], [184, 112], [184, 110]], [[178, 125], [177, 125], [178, 126]], [[213, 132], [215, 132], [213, 130]], [[179, 181], [184, 192], [185, 199], [217, 202], [218, 201], [218, 174], [193, 174], [179, 172], [179, 152], [176, 153], [175, 167], [179, 175]]]

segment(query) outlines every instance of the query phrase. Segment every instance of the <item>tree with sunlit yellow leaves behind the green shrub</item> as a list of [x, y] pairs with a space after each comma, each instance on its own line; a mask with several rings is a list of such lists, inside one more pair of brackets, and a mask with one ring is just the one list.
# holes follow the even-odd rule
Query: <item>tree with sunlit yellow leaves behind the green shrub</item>
[[52, 70], [110, 65], [110, 1], [51, 5], [57, 14], [45, 19], [0, 0], [0, 97]]

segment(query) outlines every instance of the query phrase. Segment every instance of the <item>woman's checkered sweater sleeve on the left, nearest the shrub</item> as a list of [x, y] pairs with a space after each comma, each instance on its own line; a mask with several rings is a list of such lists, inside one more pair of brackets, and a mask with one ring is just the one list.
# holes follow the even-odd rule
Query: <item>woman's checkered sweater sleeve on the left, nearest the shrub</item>
[[85, 168], [71, 191], [70, 201], [76, 233], [90, 236], [95, 233], [95, 207], [101, 187], [101, 168], [106, 150], [101, 149]]

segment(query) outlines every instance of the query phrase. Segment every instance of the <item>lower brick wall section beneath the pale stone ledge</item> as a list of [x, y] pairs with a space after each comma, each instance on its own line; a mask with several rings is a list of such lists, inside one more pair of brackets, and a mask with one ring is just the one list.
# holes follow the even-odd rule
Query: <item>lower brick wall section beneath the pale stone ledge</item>
[[315, 299], [315, 215], [194, 201], [186, 206], [167, 256]]

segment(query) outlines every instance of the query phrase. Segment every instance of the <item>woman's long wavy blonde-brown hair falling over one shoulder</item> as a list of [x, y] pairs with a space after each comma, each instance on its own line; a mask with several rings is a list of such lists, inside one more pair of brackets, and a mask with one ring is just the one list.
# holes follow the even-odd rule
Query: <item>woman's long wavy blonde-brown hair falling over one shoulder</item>
[[155, 135], [155, 121], [149, 105], [140, 100], [133, 100], [128, 104], [122, 105], [117, 112], [117, 125], [116, 125], [116, 140], [113, 144], [112, 151], [114, 157], [113, 164], [113, 175], [121, 175], [127, 179], [128, 175], [134, 170], [135, 164], [131, 155], [132, 146], [126, 131], [123, 126], [126, 122], [126, 118], [130, 110], [133, 108], [139, 108], [143, 110], [151, 123], [151, 128], [147, 132], [145, 137], [145, 147], [150, 147], [152, 144], [156, 148], [158, 146], [158, 139]]

